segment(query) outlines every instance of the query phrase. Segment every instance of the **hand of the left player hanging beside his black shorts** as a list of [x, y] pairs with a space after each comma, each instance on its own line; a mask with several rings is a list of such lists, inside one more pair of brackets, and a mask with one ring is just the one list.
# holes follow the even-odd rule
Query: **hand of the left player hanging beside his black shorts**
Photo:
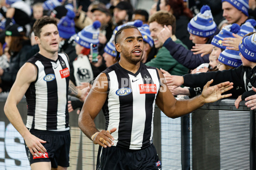
[[32, 153], [33, 156], [37, 154], [40, 156], [40, 153], [45, 153], [47, 150], [44, 148], [44, 146], [41, 143], [46, 143], [46, 141], [39, 139], [38, 137], [32, 135], [29, 133], [24, 137], [25, 143], [27, 147], [29, 147], [29, 151]]

